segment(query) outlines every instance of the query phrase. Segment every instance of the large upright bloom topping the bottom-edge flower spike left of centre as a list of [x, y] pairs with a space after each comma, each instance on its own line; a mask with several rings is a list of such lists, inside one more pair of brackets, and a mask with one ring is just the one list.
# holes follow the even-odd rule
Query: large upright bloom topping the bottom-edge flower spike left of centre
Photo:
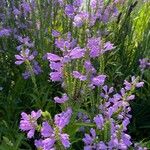
[[68, 108], [66, 111], [55, 115], [55, 125], [62, 130], [70, 121], [72, 115], [72, 109]]

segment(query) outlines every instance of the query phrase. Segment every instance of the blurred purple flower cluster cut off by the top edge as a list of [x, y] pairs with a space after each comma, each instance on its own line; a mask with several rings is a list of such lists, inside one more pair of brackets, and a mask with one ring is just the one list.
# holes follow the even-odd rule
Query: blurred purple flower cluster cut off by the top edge
[[59, 1], [60, 6], [65, 7], [64, 12], [67, 17], [73, 20], [75, 27], [82, 27], [83, 24], [94, 26], [97, 21], [108, 23], [113, 20], [112, 18], [118, 16], [118, 3], [120, 1], [106, 4], [103, 0], [91, 0], [89, 10], [87, 11], [87, 6], [83, 0], [75, 0], [69, 4], [64, 1]]

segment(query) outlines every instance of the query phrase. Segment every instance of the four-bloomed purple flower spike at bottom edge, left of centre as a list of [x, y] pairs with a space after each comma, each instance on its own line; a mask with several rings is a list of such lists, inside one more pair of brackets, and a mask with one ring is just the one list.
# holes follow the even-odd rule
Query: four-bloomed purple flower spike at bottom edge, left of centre
[[55, 142], [59, 141], [65, 148], [69, 148], [71, 143], [69, 135], [62, 133], [62, 129], [69, 123], [72, 110], [68, 108], [66, 112], [55, 115], [55, 124], [52, 128], [49, 123], [43, 122], [41, 127], [42, 139], [35, 140], [35, 146], [43, 150], [54, 150]]

